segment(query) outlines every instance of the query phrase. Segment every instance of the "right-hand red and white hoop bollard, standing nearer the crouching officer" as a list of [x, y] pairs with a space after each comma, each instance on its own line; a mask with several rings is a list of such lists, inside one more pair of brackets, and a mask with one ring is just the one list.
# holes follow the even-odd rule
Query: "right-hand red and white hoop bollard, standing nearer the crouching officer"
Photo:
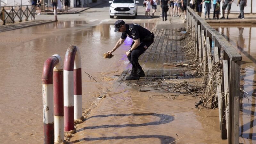
[[[71, 45], [64, 60], [64, 129], [74, 129], [74, 119], [82, 117], [82, 78], [79, 49]], [[74, 114], [75, 113], [75, 114]]]

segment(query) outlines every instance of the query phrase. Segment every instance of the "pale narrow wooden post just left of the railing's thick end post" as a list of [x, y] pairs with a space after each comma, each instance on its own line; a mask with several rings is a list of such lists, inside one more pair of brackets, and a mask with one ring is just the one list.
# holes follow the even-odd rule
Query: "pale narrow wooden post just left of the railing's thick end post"
[[230, 137], [230, 97], [229, 97], [229, 83], [228, 83], [228, 60], [223, 60], [223, 77], [224, 77], [224, 94], [225, 94], [225, 117], [226, 117], [226, 128], [228, 144], [231, 144]]

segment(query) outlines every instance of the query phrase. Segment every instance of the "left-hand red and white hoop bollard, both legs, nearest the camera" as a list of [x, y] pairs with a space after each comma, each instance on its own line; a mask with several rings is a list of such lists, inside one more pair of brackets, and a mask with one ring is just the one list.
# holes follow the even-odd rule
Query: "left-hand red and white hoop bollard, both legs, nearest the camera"
[[[62, 60], [59, 55], [53, 55], [52, 57], [48, 58], [44, 62], [43, 67], [43, 86], [42, 86], [42, 94], [43, 94], [43, 122], [44, 122], [44, 144], [53, 144], [54, 143], [54, 127], [55, 125], [61, 125], [58, 122], [54, 124], [54, 117], [53, 117], [53, 92], [54, 96], [58, 97], [57, 100], [60, 100], [61, 94], [63, 97], [63, 89], [61, 90], [60, 87], [63, 87], [63, 75], [62, 72]], [[58, 71], [58, 73], [53, 72], [53, 70]], [[54, 84], [53, 84], [53, 73], [54, 76]], [[54, 98], [55, 99], [55, 98]], [[63, 99], [63, 98], [62, 98]], [[56, 101], [58, 102], [58, 101]], [[62, 102], [63, 103], [63, 102]], [[58, 103], [58, 105], [54, 105], [55, 107], [60, 106], [61, 109], [61, 102]], [[63, 106], [62, 106], [63, 109]], [[60, 117], [61, 116], [61, 110], [58, 112]], [[63, 114], [63, 113], [62, 113]], [[63, 118], [62, 118], [63, 119]], [[61, 118], [58, 118], [59, 121], [61, 121]], [[57, 120], [57, 121], [58, 121]], [[62, 120], [63, 121], [63, 120]], [[63, 124], [62, 124], [63, 125]], [[61, 126], [59, 126], [60, 128]], [[61, 129], [61, 128], [60, 128]], [[63, 126], [62, 126], [63, 129]], [[55, 128], [55, 130], [57, 130]], [[56, 135], [56, 138], [61, 138], [62, 141], [64, 141], [64, 131], [61, 133], [59, 130], [59, 135]], [[61, 141], [59, 139], [59, 141]]]

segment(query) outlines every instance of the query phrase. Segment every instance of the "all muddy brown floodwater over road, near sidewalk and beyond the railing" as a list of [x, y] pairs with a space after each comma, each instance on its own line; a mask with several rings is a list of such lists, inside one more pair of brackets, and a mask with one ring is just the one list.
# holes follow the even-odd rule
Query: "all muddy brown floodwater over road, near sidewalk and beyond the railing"
[[[155, 27], [153, 23], [140, 25], [149, 30]], [[234, 33], [234, 36], [238, 34]], [[120, 35], [114, 32], [113, 25], [88, 27], [84, 21], [49, 23], [2, 32], [1, 143], [43, 143], [43, 64], [53, 54], [59, 54], [64, 60], [68, 46], [73, 44], [79, 48], [82, 59], [83, 110], [88, 111], [90, 108], [92, 112], [86, 120], [86, 127], [76, 126], [78, 132], [71, 143], [168, 144], [177, 140], [174, 143], [226, 144], [227, 140], [220, 139], [218, 111], [203, 109], [198, 112], [194, 108], [194, 103], [198, 101], [195, 97], [180, 95], [168, 99], [166, 93], [138, 92], [126, 84], [115, 84], [117, 76], [130, 67], [125, 52], [129, 50], [132, 39], [127, 38], [111, 59], [104, 59], [103, 53], [112, 50]], [[248, 52], [248, 37], [246, 35], [243, 38], [244, 50]], [[255, 56], [253, 50], [249, 54]], [[241, 106], [240, 142], [251, 144], [255, 143], [256, 133], [253, 127], [255, 61], [244, 56], [243, 61], [241, 84], [252, 97], [249, 97], [250, 101], [243, 99]], [[95, 80], [90, 79], [85, 72]], [[103, 95], [107, 97], [97, 101], [97, 97]]]

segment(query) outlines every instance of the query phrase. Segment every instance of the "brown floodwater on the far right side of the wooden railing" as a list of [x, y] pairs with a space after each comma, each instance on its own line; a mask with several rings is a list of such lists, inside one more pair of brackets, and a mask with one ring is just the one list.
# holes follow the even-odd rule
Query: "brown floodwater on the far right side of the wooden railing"
[[248, 93], [240, 106], [240, 142], [256, 143], [256, 25], [213, 26], [242, 55], [241, 85]]

